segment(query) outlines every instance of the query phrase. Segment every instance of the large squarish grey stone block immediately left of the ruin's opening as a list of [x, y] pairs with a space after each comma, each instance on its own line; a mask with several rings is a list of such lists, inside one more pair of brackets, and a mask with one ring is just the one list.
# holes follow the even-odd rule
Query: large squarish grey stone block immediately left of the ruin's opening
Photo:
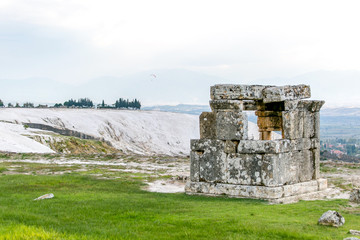
[[242, 140], [248, 137], [246, 113], [217, 112], [216, 138], [220, 140]]

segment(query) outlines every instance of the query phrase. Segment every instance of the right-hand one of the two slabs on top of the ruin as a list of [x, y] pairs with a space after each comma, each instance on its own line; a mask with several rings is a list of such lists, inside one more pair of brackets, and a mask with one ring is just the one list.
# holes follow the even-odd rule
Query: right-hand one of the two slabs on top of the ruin
[[263, 101], [267, 102], [281, 102], [285, 100], [297, 100], [310, 98], [310, 86], [296, 85], [296, 86], [283, 86], [283, 87], [266, 87], [263, 90]]

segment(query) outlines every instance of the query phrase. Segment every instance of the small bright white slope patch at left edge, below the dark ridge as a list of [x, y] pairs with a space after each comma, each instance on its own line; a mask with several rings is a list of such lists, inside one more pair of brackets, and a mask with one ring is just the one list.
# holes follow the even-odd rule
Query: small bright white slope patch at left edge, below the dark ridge
[[24, 135], [30, 135], [22, 125], [0, 122], [0, 151], [20, 153], [54, 153], [53, 150]]

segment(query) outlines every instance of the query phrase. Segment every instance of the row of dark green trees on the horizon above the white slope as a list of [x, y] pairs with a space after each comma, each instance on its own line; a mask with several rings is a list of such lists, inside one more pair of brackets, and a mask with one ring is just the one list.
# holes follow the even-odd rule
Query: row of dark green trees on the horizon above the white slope
[[[4, 102], [0, 99], [0, 107], [5, 107]], [[19, 103], [16, 103], [15, 106], [12, 103], [8, 103], [8, 108], [35, 108], [34, 103], [25, 102], [22, 106]], [[56, 103], [54, 108], [94, 108], [95, 105], [93, 101], [89, 98], [80, 98], [78, 100], [70, 99], [64, 103]], [[48, 105], [39, 104], [36, 108], [48, 108]], [[123, 99], [119, 98], [114, 104], [106, 104], [103, 100], [101, 104], [97, 105], [97, 108], [111, 108], [111, 109], [140, 109], [141, 103], [138, 99]]]

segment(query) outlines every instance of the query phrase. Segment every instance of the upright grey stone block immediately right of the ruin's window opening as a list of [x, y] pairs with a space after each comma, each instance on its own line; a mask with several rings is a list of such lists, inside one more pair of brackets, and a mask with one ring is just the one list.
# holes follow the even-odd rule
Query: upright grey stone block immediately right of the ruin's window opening
[[284, 111], [282, 118], [284, 138], [297, 139], [303, 138], [304, 117], [303, 111]]

